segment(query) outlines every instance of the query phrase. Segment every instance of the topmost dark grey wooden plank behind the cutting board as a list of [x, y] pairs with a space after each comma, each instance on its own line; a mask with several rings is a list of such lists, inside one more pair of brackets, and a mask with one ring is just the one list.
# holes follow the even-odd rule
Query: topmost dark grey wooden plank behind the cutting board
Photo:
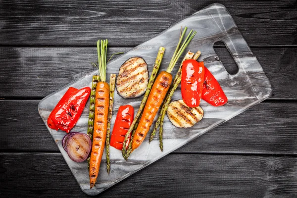
[[296, 0], [1, 0], [0, 45], [136, 46], [219, 2], [250, 46], [296, 46]]

